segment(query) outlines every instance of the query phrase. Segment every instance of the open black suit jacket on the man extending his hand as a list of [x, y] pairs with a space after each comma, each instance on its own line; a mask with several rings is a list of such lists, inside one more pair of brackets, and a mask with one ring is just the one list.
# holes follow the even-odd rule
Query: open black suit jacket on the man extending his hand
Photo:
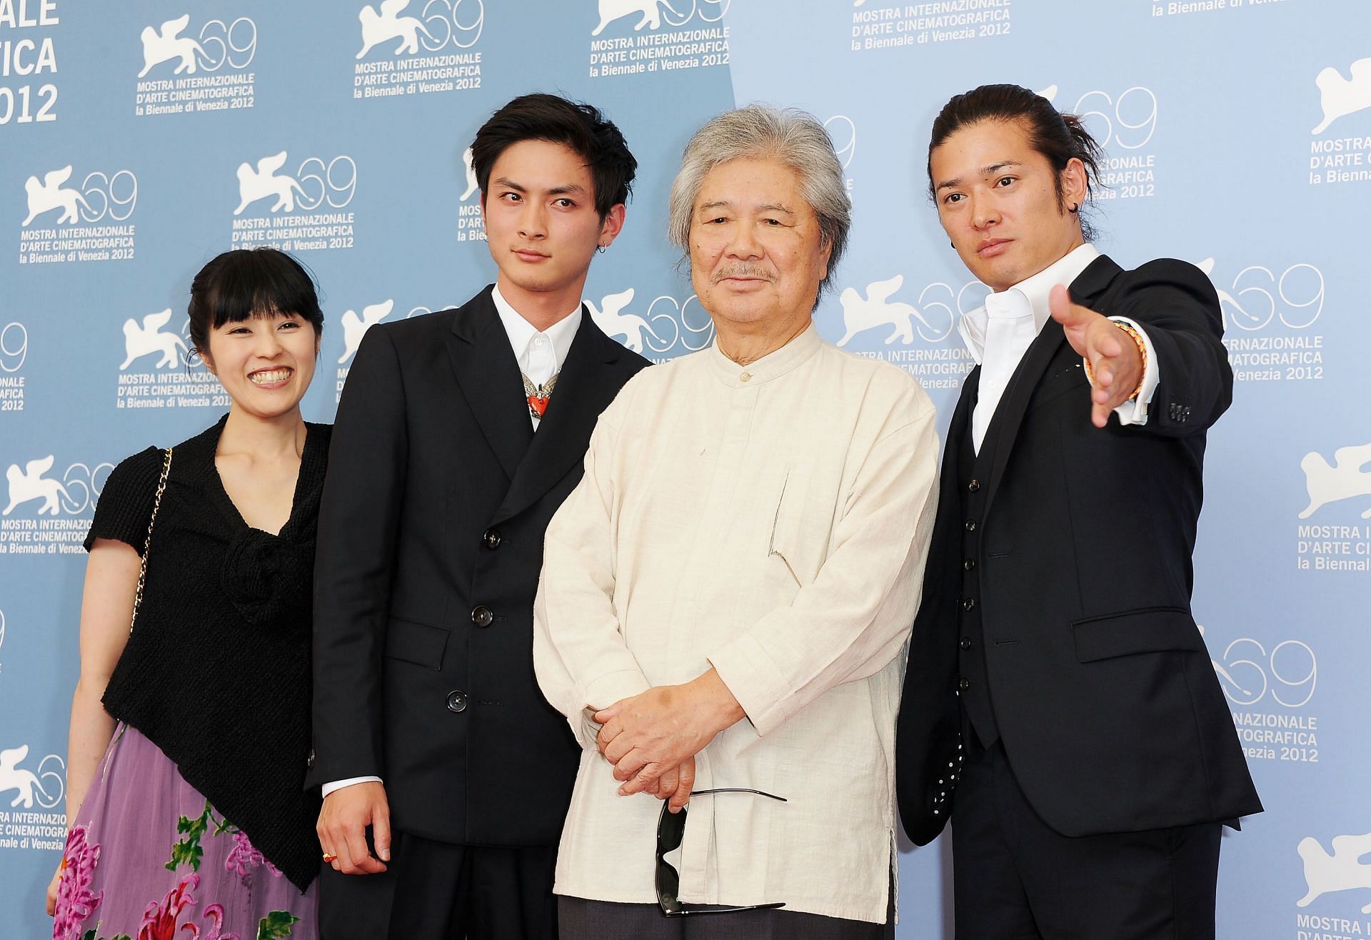
[[[1205, 432], [1233, 396], [1217, 295], [1185, 262], [1124, 271], [1098, 258], [1071, 296], [1141, 323], [1160, 385], [1146, 425], [1095, 428], [1080, 358], [1049, 321], [987, 429], [983, 637], [971, 639], [984, 643], [1005, 752], [1032, 807], [1067, 836], [1260, 813], [1190, 614]], [[958, 460], [979, 378], [964, 384], [947, 433], [899, 711], [897, 792], [917, 844], [947, 819], [950, 802], [935, 797], [957, 762]]]

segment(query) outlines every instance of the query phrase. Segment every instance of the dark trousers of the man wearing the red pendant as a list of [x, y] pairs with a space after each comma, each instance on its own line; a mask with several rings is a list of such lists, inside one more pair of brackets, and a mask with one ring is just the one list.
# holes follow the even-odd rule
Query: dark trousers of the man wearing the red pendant
[[396, 832], [381, 874], [319, 876], [321, 940], [557, 940], [557, 845], [454, 845]]

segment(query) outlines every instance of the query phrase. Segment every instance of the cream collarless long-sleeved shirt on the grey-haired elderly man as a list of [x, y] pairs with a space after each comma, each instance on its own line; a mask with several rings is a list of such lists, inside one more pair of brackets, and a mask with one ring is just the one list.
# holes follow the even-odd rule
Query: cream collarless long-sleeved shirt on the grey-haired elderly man
[[895, 713], [936, 502], [928, 396], [813, 325], [746, 366], [644, 369], [547, 529], [533, 670], [583, 747], [559, 895], [654, 903], [661, 802], [622, 797], [587, 708], [713, 666], [747, 714], [695, 756], [686, 902], [886, 919]]

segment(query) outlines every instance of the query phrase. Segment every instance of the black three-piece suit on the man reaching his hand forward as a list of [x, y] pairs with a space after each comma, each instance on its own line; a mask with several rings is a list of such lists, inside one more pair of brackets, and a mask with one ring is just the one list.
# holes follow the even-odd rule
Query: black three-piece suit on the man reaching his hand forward
[[[1080, 356], [1049, 321], [978, 455], [979, 369], [968, 377], [901, 702], [901, 817], [919, 844], [953, 821], [958, 936], [1202, 936], [1212, 881], [1130, 911], [1109, 880], [1157, 876], [1127, 870], [1148, 840], [1142, 856], [1160, 866], [1216, 859], [1212, 824], [1261, 810], [1190, 613], [1205, 432], [1233, 392], [1219, 301], [1175, 260], [1124, 271], [1101, 256], [1069, 292], [1146, 330], [1160, 370], [1150, 417], [1091, 425]], [[1058, 852], [1071, 856], [1060, 869]], [[1001, 876], [1015, 887], [995, 888]], [[1020, 881], [1027, 899], [997, 921], [997, 892]], [[1167, 921], [1172, 903], [1198, 908], [1201, 926]]]

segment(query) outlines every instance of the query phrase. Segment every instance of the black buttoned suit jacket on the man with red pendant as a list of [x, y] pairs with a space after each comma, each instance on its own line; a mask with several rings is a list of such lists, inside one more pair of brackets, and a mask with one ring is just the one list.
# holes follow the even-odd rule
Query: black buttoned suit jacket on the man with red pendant
[[543, 533], [646, 364], [583, 311], [535, 434], [489, 288], [366, 332], [319, 512], [308, 785], [374, 774], [404, 832], [557, 844], [580, 750], [533, 677]]

